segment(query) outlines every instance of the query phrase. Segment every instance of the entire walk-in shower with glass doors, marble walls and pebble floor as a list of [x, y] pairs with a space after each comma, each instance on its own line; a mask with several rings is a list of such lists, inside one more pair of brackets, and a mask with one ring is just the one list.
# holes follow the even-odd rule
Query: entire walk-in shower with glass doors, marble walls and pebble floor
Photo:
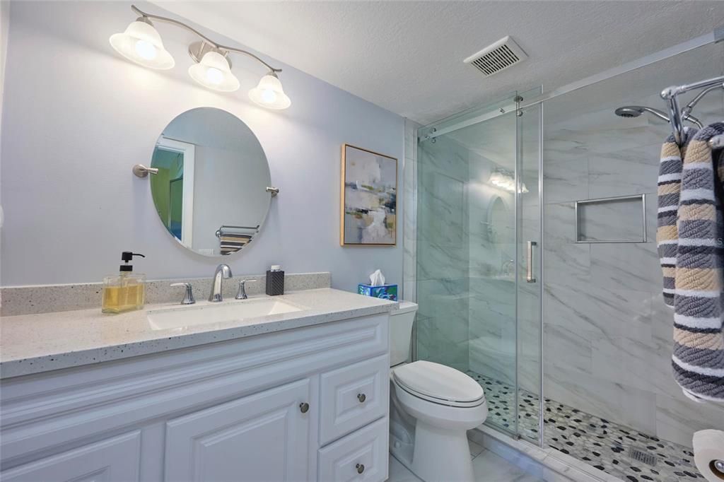
[[[488, 426], [593, 473], [700, 478], [692, 436], [724, 430], [674, 382], [655, 236], [660, 92], [724, 75], [719, 35], [418, 129], [415, 358], [478, 381]], [[724, 90], [693, 114], [721, 122]]]

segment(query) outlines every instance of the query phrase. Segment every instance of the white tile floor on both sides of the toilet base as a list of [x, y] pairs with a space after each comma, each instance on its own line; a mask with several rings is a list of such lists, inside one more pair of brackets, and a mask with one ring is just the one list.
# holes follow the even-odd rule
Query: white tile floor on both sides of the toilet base
[[[526, 473], [522, 468], [480, 447], [473, 441], [470, 441], [470, 454], [473, 457], [473, 472], [476, 482], [544, 482], [542, 478], [536, 478]], [[420, 479], [390, 455], [390, 478], [387, 481], [420, 482]]]

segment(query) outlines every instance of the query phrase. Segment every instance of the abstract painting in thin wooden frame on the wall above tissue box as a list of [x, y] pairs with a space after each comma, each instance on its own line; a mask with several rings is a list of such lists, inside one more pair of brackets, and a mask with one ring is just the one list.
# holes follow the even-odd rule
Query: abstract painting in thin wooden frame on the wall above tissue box
[[342, 246], [397, 242], [397, 159], [342, 145]]

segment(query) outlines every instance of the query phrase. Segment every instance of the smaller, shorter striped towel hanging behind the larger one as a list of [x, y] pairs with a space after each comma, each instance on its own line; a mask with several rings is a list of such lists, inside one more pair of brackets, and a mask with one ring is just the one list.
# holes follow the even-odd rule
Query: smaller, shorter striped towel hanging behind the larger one
[[659, 209], [657, 214], [656, 242], [664, 274], [664, 303], [674, 306], [676, 248], [678, 232], [676, 231], [676, 213], [678, 211], [679, 193], [681, 193], [681, 168], [686, 147], [694, 137], [696, 129], [685, 127], [684, 142], [681, 148], [675, 143], [673, 134], [661, 147], [661, 163], [659, 165], [659, 182], [657, 194]]

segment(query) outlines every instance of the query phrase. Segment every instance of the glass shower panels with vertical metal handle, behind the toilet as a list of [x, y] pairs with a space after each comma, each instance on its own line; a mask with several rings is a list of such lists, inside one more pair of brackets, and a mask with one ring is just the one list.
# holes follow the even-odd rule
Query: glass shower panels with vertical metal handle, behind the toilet
[[416, 358], [468, 373], [487, 423], [538, 441], [541, 113], [520, 109], [533, 94], [418, 131]]

